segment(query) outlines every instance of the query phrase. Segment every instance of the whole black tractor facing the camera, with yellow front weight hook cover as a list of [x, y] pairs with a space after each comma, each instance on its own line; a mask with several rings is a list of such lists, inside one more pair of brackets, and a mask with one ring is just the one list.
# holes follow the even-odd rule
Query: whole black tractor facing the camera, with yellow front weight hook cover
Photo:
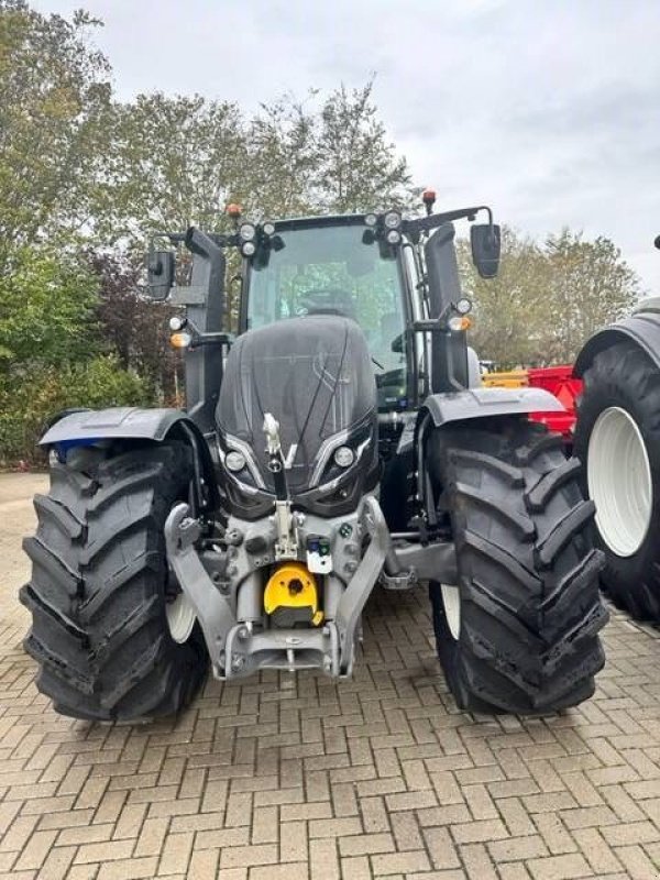
[[541, 714], [593, 694], [594, 504], [561, 438], [528, 418], [563, 408], [482, 387], [454, 223], [471, 223], [483, 277], [499, 228], [487, 207], [433, 201], [413, 217], [234, 210], [230, 232], [152, 238], [146, 289], [180, 307], [186, 409], [69, 413], [41, 440], [51, 490], [21, 601], [57, 712], [172, 714], [209, 666], [226, 682], [342, 679], [376, 585], [428, 586], [460, 708]]

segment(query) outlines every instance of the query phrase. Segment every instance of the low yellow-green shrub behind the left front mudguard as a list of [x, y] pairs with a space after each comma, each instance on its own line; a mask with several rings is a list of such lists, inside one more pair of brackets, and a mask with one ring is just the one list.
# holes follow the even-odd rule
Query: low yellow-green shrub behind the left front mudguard
[[37, 442], [56, 413], [73, 407], [146, 406], [152, 392], [112, 355], [61, 366], [31, 364], [0, 377], [0, 465], [38, 461]]

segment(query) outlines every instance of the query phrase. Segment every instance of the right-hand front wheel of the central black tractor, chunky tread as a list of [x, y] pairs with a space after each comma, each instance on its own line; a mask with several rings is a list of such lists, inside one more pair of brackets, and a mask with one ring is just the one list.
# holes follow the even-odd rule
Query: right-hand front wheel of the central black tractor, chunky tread
[[525, 715], [587, 700], [607, 612], [579, 463], [559, 436], [513, 418], [436, 429], [427, 453], [457, 548], [459, 584], [429, 592], [458, 705]]

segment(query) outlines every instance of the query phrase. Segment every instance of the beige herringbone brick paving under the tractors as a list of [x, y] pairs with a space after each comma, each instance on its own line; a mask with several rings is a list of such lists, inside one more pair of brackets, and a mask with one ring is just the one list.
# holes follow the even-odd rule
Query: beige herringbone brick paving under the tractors
[[0, 625], [0, 878], [660, 877], [660, 637], [622, 614], [596, 696], [528, 721], [455, 708], [424, 591], [371, 603], [352, 681], [210, 681], [157, 725], [55, 715], [23, 628]]

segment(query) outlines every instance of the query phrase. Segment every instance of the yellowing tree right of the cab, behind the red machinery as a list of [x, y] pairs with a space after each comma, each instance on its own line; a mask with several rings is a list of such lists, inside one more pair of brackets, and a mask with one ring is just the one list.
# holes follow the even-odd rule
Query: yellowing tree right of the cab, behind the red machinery
[[503, 229], [501, 271], [480, 278], [461, 242], [464, 286], [475, 304], [472, 341], [501, 369], [572, 363], [601, 327], [626, 315], [639, 279], [603, 237], [564, 229], [542, 244]]

